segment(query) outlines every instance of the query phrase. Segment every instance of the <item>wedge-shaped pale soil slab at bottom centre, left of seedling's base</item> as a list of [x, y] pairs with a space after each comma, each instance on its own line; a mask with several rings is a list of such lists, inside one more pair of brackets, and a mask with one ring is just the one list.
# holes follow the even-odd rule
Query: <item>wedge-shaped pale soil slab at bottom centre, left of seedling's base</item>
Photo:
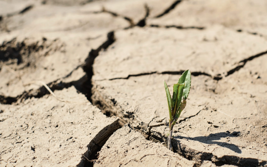
[[160, 143], [148, 141], [125, 125], [111, 135], [102, 147], [95, 166], [195, 166]]

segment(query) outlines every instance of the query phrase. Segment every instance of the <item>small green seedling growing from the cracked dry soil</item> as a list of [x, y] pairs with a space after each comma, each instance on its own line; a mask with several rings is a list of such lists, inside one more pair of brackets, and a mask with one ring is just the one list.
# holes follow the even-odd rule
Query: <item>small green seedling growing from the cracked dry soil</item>
[[[170, 114], [169, 120], [169, 133], [168, 133], [168, 149], [172, 150], [171, 146], [171, 137], [172, 137], [172, 129], [178, 120], [181, 112], [186, 106], [186, 99], [188, 97], [190, 87], [191, 87], [191, 73], [188, 70], [184, 71], [182, 76], [179, 78], [178, 83], [173, 85], [173, 94], [171, 98], [171, 94], [169, 88], [164, 81], [166, 96], [168, 100], [168, 108]], [[173, 151], [173, 150], [172, 150]]]

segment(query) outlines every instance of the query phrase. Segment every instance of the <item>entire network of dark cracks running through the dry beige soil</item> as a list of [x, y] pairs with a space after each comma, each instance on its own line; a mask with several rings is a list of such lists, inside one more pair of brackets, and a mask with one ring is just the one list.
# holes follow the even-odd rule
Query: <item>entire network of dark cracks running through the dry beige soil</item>
[[[166, 10], [164, 10], [163, 13], [155, 16], [155, 18], [162, 17], [163, 15], [169, 13], [180, 2], [182, 2], [182, 1], [181, 0], [175, 1], [174, 3], [171, 4], [170, 7], [168, 7]], [[32, 9], [32, 7], [33, 7], [33, 5], [26, 6], [23, 10], [15, 13], [15, 14], [23, 14], [23, 13], [29, 11], [30, 9]], [[131, 18], [119, 15], [119, 14], [117, 14], [115, 12], [107, 11], [105, 9], [103, 9], [103, 11], [100, 11], [100, 12], [109, 13], [109, 14], [113, 15], [114, 17], [118, 17], [118, 16], [123, 17], [125, 20], [127, 20], [130, 23], [129, 28], [132, 28], [133, 26], [144, 27], [144, 26], [146, 26], [146, 18], [150, 14], [149, 7], [147, 5], [145, 5], [144, 7], [145, 7], [145, 10], [146, 10], [146, 14], [145, 14], [144, 18], [141, 19], [136, 24], [133, 23]], [[10, 17], [10, 16], [13, 16], [13, 15], [14, 15], [14, 13], [10, 14], [8, 16]], [[2, 18], [3, 17], [0, 16], [0, 21], [2, 20]], [[198, 29], [198, 30], [205, 29], [205, 27], [197, 27], [197, 26], [184, 27], [184, 26], [176, 26], [176, 25], [165, 25], [165, 26], [150, 25], [150, 27], [164, 27], [164, 28], [177, 28], [177, 29]], [[125, 29], [127, 29], [127, 28], [125, 28]], [[254, 35], [256, 35], [256, 34], [254, 34]], [[105, 41], [103, 44], [101, 44], [97, 49], [92, 49], [89, 52], [89, 55], [88, 55], [87, 59], [85, 60], [85, 64], [82, 66], [84, 72], [86, 72], [86, 75], [83, 76], [82, 78], [80, 78], [79, 80], [72, 81], [72, 82], [69, 82], [69, 83], [63, 83], [63, 82], [57, 83], [57, 80], [56, 80], [56, 81], [50, 82], [47, 85], [50, 87], [50, 89], [52, 91], [54, 91], [54, 90], [62, 90], [63, 88], [68, 88], [68, 87], [74, 85], [76, 87], [76, 89], [78, 91], [80, 91], [81, 93], [83, 93], [91, 103], [94, 103], [94, 105], [99, 107], [101, 109], [101, 111], [104, 112], [105, 115], [107, 115], [107, 116], [116, 115], [115, 114], [116, 112], [112, 111], [112, 108], [109, 111], [107, 111], [107, 109], [105, 108], [105, 106], [108, 107], [108, 105], [110, 105], [110, 104], [116, 106], [117, 105], [116, 99], [111, 100], [111, 103], [108, 104], [108, 105], [104, 102], [104, 100], [103, 101], [98, 100], [98, 101], [92, 102], [92, 96], [93, 96], [93, 94], [92, 94], [92, 76], [94, 75], [93, 74], [92, 65], [94, 63], [95, 58], [99, 55], [99, 52], [102, 49], [104, 49], [104, 50], [107, 49], [115, 41], [116, 41], [116, 39], [115, 39], [114, 31], [109, 32], [107, 34], [107, 41]], [[9, 42], [12, 43], [12, 42], [14, 42], [14, 40], [11, 40]], [[2, 44], [0, 47], [6, 47], [6, 46], [7, 46], [6, 44], [5, 45]], [[7, 46], [7, 47], [9, 47], [9, 46]], [[12, 52], [12, 54], [8, 54], [8, 55], [5, 52], [1, 51], [1, 48], [0, 48], [0, 60], [7, 61], [8, 59], [17, 59], [17, 64], [20, 64], [22, 62], [22, 57], [21, 57], [19, 52], [21, 50], [23, 50], [22, 47], [23, 47], [23, 42], [21, 44], [18, 44], [17, 48], [16, 47], [13, 47], [13, 48], [11, 47], [11, 48], [5, 49], [5, 51], [8, 51], [9, 53]], [[37, 49], [41, 49], [41, 48], [38, 48], [39, 46], [37, 47], [37, 44], [33, 45], [31, 47], [32, 47], [32, 49], [36, 49], [36, 48]], [[4, 49], [2, 49], [2, 50], [4, 50]], [[239, 63], [238, 63], [239, 65], [237, 65], [233, 69], [229, 70], [225, 76], [227, 77], [227, 76], [233, 74], [234, 72], [236, 72], [239, 69], [241, 69], [242, 67], [244, 67], [245, 64], [248, 61], [251, 61], [254, 58], [263, 56], [265, 54], [267, 54], [267, 51], [258, 53], [256, 55], [250, 56], [250, 57], [248, 57], [248, 58], [246, 58], [244, 60], [239, 61]], [[78, 66], [78, 67], [80, 67], [80, 66]], [[70, 72], [65, 77], [70, 76], [72, 74], [72, 72]], [[160, 73], [158, 73], [157, 71], [154, 71], [154, 72], [147, 72], [147, 73], [140, 73], [140, 74], [132, 74], [132, 75], [128, 75], [127, 77], [124, 77], [124, 78], [119, 78], [118, 77], [118, 78], [112, 78], [112, 79], [109, 79], [109, 80], [129, 79], [130, 77], [151, 75], [151, 74], [154, 74], [154, 73], [181, 75], [182, 72], [183, 72], [183, 70], [182, 71], [165, 71], [165, 72], [160, 72]], [[205, 75], [205, 76], [212, 77], [210, 74], [205, 73], [205, 72], [192, 72], [191, 74], [193, 76]], [[221, 74], [218, 74], [217, 76], [213, 77], [213, 79], [214, 80], [221, 80], [222, 79]], [[19, 100], [19, 99], [28, 99], [28, 98], [31, 98], [31, 97], [41, 98], [42, 96], [44, 96], [46, 94], [49, 94], [49, 91], [46, 90], [46, 88], [44, 86], [42, 86], [37, 91], [23, 92], [23, 94], [21, 94], [21, 95], [19, 95], [17, 97], [6, 97], [6, 96], [2, 96], [1, 95], [0, 96], [0, 103], [2, 103], [2, 104], [11, 104], [11, 103], [17, 102], [17, 100]], [[110, 107], [108, 107], [108, 108], [110, 108]], [[201, 110], [199, 112], [201, 112]], [[197, 112], [197, 114], [195, 114], [195, 115], [192, 115], [192, 116], [189, 116], [187, 118], [184, 118], [184, 119], [180, 120], [179, 123], [181, 123], [182, 121], [186, 121], [186, 119], [190, 119], [191, 117], [194, 117], [194, 116], [198, 115], [199, 112]], [[120, 119], [125, 119], [126, 118], [129, 122], [130, 121], [136, 121], [134, 116], [131, 116], [131, 113], [128, 115], [128, 117], [121, 118], [120, 115], [116, 115], [116, 116], [120, 117]], [[154, 142], [166, 142], [166, 139], [167, 139], [166, 136], [160, 134], [161, 137], [159, 138], [158, 136], [156, 136], [154, 134], [151, 134], [152, 127], [164, 126], [164, 123], [159, 123], [158, 125], [149, 126], [149, 125], [143, 124], [142, 122], [139, 122], [139, 125], [140, 125], [139, 126], [140, 129], [139, 130], [136, 129], [136, 131], [142, 131], [143, 128], [144, 129], [148, 128], [148, 132], [145, 132], [146, 139], [154, 141]], [[119, 122], [117, 121], [111, 127], [107, 127], [107, 128], [104, 128], [103, 130], [101, 130], [99, 132], [99, 134], [97, 134], [97, 136], [93, 139], [93, 141], [90, 142], [88, 144], [88, 146], [87, 146], [89, 148], [89, 150], [91, 150], [92, 153], [90, 154], [90, 153], [87, 152], [87, 153], [84, 154], [84, 156], [88, 157], [89, 160], [94, 160], [95, 158], [97, 158], [97, 152], [99, 150], [101, 150], [102, 146], [108, 140], [110, 135], [114, 131], [119, 129], [120, 127], [121, 126], [119, 125]], [[108, 132], [105, 133], [104, 131], [108, 131]], [[142, 134], [144, 134], [144, 132]], [[174, 143], [176, 143], [176, 142], [174, 142]], [[253, 158], [242, 158], [241, 159], [240, 157], [235, 157], [235, 156], [223, 156], [222, 158], [218, 158], [218, 157], [214, 156], [212, 153], [206, 153], [206, 152], [201, 152], [200, 153], [197, 150], [191, 150], [186, 145], [181, 145], [179, 142], [176, 145], [174, 144], [174, 148], [175, 148], [174, 150], [178, 150], [177, 153], [179, 153], [180, 155], [182, 155], [183, 157], [185, 157], [185, 158], [187, 158], [189, 160], [194, 160], [195, 159], [195, 160], [201, 160], [202, 162], [204, 160], [208, 160], [208, 161], [212, 161], [214, 164], [216, 164], [218, 166], [221, 166], [221, 165], [224, 165], [224, 164], [236, 164], [238, 166], [257, 166], [257, 165], [264, 166], [264, 165], [266, 165], [265, 162], [262, 162], [261, 164], [258, 164], [258, 160], [257, 159], [253, 159]], [[201, 156], [199, 156], [199, 155], [201, 155]], [[237, 164], [237, 162], [238, 162], [238, 164]], [[93, 166], [93, 161], [91, 161], [91, 162], [87, 161], [86, 162], [86, 160], [85, 160], [85, 161], [81, 162], [79, 165], [81, 165], [81, 166]]]

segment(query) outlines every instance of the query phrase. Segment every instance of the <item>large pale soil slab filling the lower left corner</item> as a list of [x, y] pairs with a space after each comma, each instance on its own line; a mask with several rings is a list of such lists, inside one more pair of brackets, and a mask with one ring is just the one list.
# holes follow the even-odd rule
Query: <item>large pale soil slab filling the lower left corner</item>
[[[101, 138], [119, 128], [74, 86], [52, 95], [1, 104], [1, 166], [76, 166], [97, 149]], [[101, 122], [101, 124], [99, 124]]]

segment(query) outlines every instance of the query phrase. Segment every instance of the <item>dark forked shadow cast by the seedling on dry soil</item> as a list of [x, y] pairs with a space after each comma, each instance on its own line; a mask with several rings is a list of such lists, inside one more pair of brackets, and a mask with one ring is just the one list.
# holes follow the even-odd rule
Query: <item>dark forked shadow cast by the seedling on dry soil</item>
[[232, 132], [230, 133], [229, 131], [227, 132], [220, 132], [220, 133], [212, 133], [208, 136], [198, 136], [198, 137], [183, 137], [183, 136], [176, 136], [174, 137], [175, 139], [188, 139], [188, 140], [194, 140], [194, 141], [199, 141], [201, 143], [206, 143], [206, 144], [216, 144], [221, 147], [226, 147], [230, 150], [233, 150], [236, 153], [241, 153], [242, 151], [238, 148], [238, 146], [231, 144], [231, 143], [226, 143], [226, 142], [218, 142], [215, 140], [219, 140], [224, 137], [237, 137], [240, 132]]

